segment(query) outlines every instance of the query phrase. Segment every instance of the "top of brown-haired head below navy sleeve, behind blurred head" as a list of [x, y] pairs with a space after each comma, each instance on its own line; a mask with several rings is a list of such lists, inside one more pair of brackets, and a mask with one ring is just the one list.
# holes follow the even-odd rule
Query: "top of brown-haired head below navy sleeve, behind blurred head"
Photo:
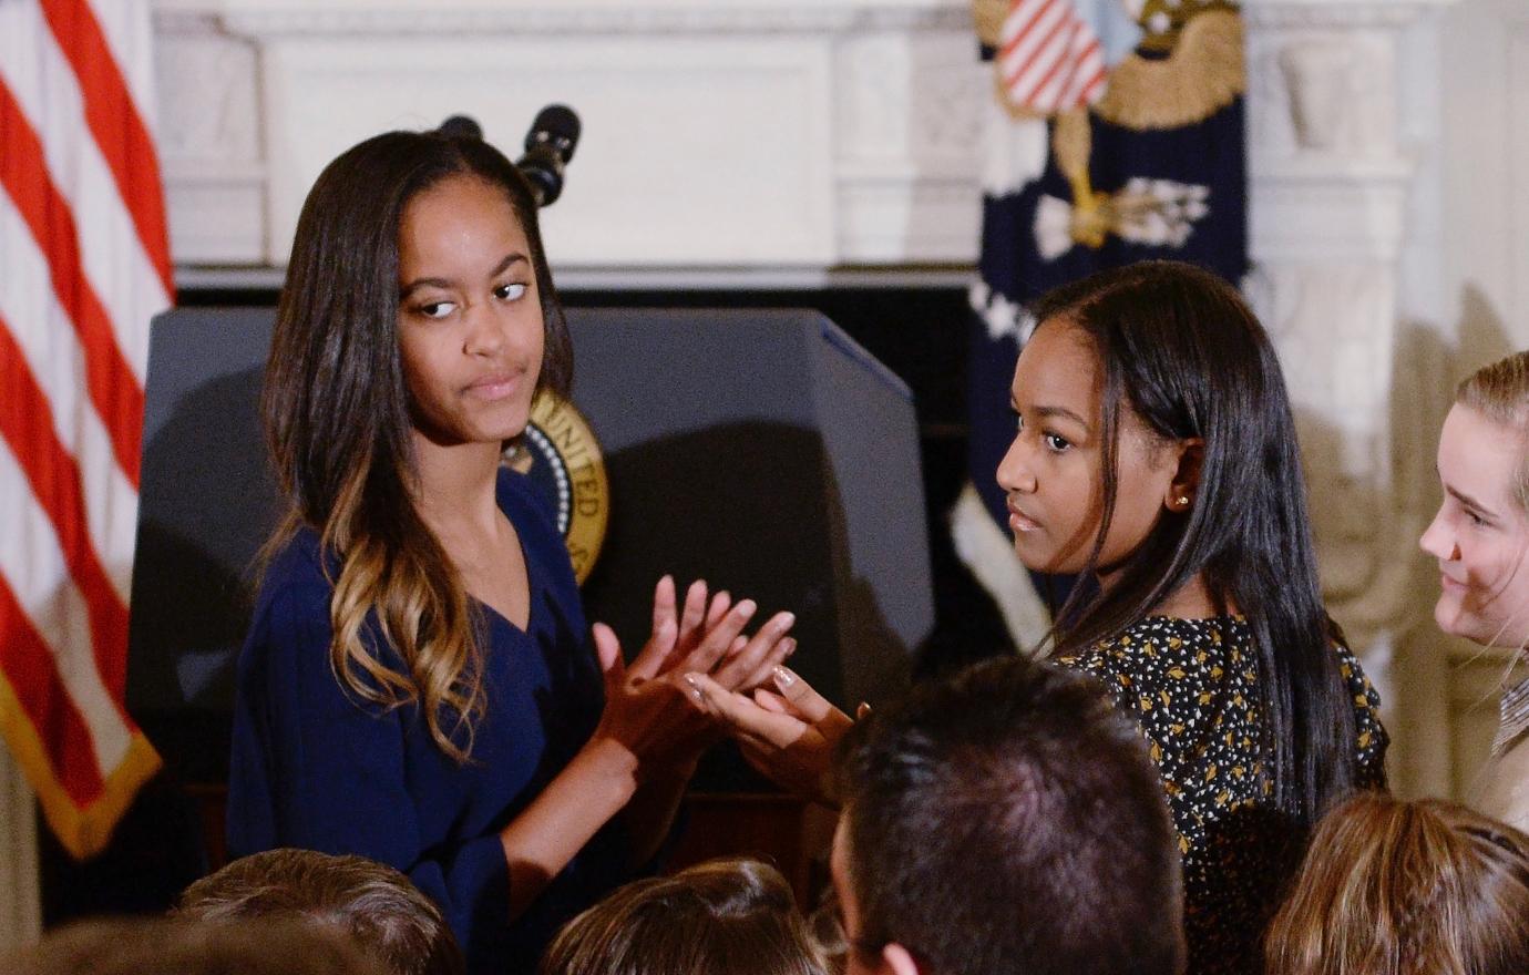
[[185, 889], [176, 917], [300, 918], [352, 935], [391, 975], [460, 975], [462, 952], [440, 909], [408, 877], [359, 856], [268, 850]]

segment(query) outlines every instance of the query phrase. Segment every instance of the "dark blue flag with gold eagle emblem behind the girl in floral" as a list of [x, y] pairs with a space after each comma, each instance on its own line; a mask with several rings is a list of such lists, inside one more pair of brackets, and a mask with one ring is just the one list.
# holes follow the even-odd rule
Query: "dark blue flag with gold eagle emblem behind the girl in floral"
[[[1034, 645], [1044, 620], [1037, 625], [1034, 591], [1001, 591], [1015, 579], [1023, 587], [1024, 573], [1006, 544], [1008, 512], [994, 472], [1014, 437], [1009, 382], [1034, 329], [1026, 306], [1058, 284], [1139, 260], [1191, 261], [1232, 283], [1248, 269], [1243, 35], [1235, 5], [1136, 0], [1128, 6], [1142, 37], [1110, 66], [1099, 101], [1044, 119], [995, 109], [985, 147], [968, 367], [976, 498], [957, 504], [953, 535], [1021, 645]], [[995, 52], [1000, 61], [1005, 50]], [[976, 524], [982, 509], [986, 524]], [[1003, 546], [994, 544], [994, 529]], [[1003, 555], [1015, 565], [995, 565]], [[1041, 588], [1058, 594], [1058, 587]]]

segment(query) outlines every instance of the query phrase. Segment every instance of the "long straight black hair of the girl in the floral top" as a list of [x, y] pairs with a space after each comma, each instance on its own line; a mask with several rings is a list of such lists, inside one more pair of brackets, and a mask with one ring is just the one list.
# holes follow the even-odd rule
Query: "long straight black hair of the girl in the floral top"
[[1355, 784], [1355, 712], [1335, 653], [1346, 640], [1316, 576], [1295, 419], [1268, 333], [1231, 284], [1176, 261], [1102, 270], [1044, 295], [1032, 312], [1041, 329], [1081, 329], [1104, 373], [1104, 515], [1086, 573], [1098, 568], [1115, 513], [1121, 410], [1157, 437], [1205, 443], [1194, 504], [1159, 517], [1107, 590], [1075, 587], [1058, 613], [1053, 656], [1119, 636], [1203, 576], [1212, 601], [1235, 605], [1252, 630], [1275, 805], [1313, 824]]

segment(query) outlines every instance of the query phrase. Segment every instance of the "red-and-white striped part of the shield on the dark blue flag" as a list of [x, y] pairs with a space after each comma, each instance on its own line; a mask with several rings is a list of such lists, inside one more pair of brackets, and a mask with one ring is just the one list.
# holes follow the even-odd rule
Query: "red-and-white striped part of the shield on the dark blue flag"
[[1099, 37], [1072, 0], [1011, 0], [997, 63], [1009, 101], [1037, 115], [1092, 105], [1104, 95]]

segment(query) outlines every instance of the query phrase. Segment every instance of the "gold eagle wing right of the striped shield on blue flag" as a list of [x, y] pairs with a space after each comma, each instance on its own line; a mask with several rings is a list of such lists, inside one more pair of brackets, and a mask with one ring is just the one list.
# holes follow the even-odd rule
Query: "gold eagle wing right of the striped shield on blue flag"
[[1211, 118], [1246, 87], [1242, 17], [1212, 9], [1183, 26], [1167, 58], [1133, 52], [1112, 67], [1093, 110], [1125, 128], [1179, 128]]

